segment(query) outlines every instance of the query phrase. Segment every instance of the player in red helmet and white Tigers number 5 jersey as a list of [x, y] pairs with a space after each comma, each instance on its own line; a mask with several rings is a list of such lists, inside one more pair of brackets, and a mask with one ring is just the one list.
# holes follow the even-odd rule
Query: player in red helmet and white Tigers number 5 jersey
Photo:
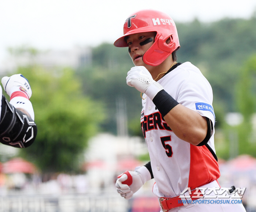
[[[123, 30], [114, 45], [128, 47], [135, 65], [126, 80], [141, 92], [140, 121], [151, 161], [121, 174], [117, 192], [130, 199], [154, 178], [153, 193], [163, 211], [245, 211], [219, 197], [212, 89], [196, 66], [176, 62], [180, 44], [172, 18], [142, 10], [127, 18]], [[208, 202], [206, 193], [215, 202]]]

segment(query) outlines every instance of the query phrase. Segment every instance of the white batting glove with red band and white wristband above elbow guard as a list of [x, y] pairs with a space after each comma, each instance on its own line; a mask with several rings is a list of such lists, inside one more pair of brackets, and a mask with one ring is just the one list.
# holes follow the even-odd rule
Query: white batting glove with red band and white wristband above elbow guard
[[10, 96], [10, 103], [16, 108], [22, 108], [27, 111], [34, 120], [34, 110], [29, 101], [32, 90], [29, 81], [22, 74], [4, 76], [1, 80], [5, 92]]

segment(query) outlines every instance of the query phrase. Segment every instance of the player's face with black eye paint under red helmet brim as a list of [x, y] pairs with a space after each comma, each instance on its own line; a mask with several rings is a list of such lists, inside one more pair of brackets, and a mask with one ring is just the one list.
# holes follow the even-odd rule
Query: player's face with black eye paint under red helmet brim
[[129, 55], [135, 66], [147, 66], [142, 56], [153, 45], [155, 35], [156, 32], [142, 32], [127, 37]]

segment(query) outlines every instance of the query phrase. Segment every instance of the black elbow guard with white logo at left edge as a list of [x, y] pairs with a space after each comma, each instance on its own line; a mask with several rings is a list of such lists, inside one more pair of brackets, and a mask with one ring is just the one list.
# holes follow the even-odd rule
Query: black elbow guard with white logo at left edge
[[2, 96], [0, 142], [16, 148], [30, 146], [37, 136], [37, 125], [25, 113], [12, 106]]

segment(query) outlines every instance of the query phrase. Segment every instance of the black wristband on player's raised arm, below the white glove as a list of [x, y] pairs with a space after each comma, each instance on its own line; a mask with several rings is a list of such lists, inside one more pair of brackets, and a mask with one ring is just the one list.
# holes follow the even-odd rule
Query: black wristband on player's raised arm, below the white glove
[[157, 109], [159, 110], [163, 117], [167, 113], [169, 113], [169, 111], [172, 110], [173, 107], [179, 104], [165, 90], [161, 90], [157, 93], [157, 95], [155, 95], [153, 103], [155, 104], [155, 106], [157, 107]]

